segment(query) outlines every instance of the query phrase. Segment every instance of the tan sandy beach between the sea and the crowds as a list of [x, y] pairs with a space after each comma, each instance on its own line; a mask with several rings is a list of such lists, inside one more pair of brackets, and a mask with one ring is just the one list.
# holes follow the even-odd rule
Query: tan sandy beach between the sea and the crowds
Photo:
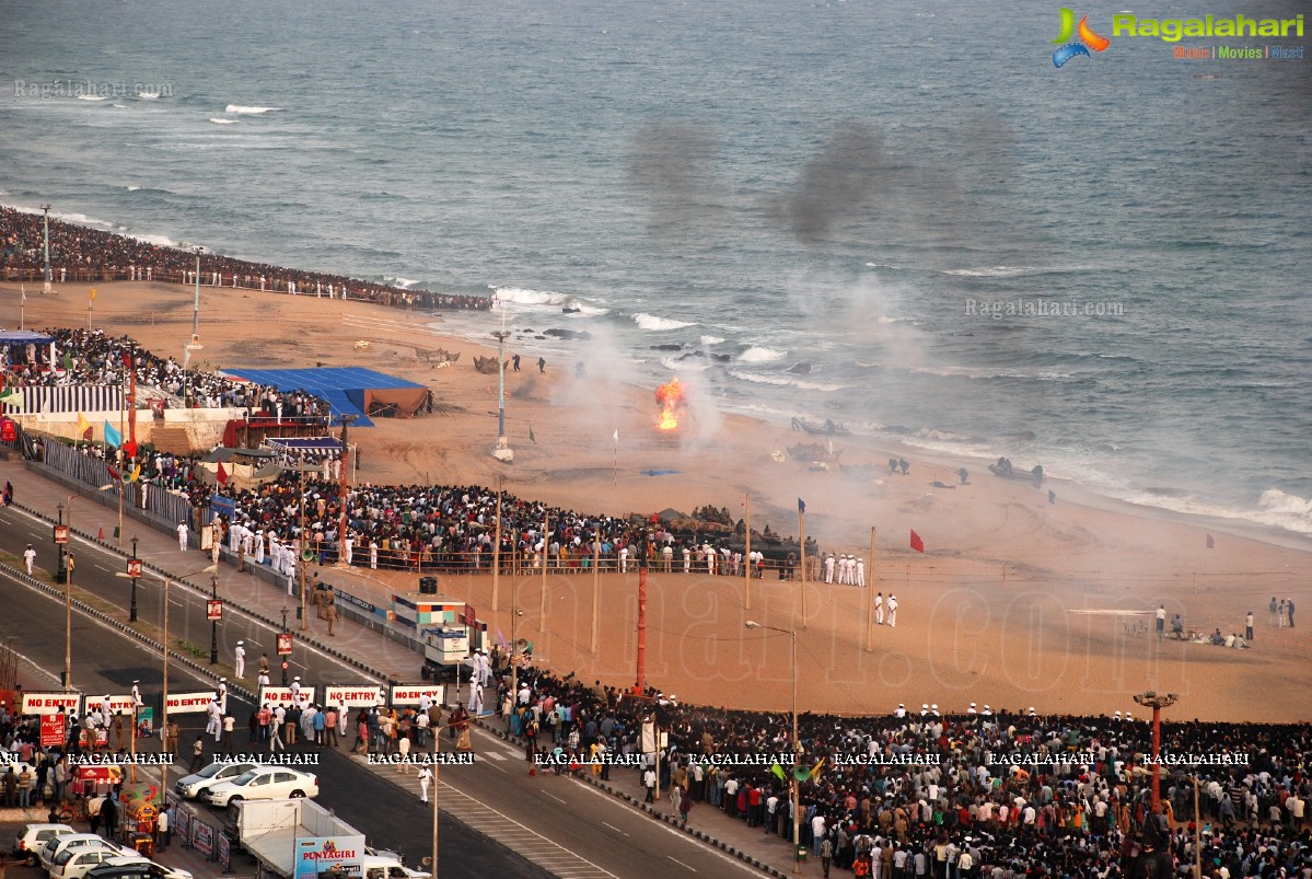
[[[192, 289], [97, 287], [96, 325], [181, 359]], [[17, 327], [17, 285], [0, 290], [0, 324]], [[84, 291], [72, 289], [58, 296], [29, 293], [25, 321], [29, 328], [85, 327], [85, 304]], [[834, 437], [832, 460], [875, 464], [872, 475], [820, 470], [786, 454], [777, 460], [775, 453], [816, 438], [698, 400], [695, 379], [687, 380], [689, 417], [677, 432], [663, 433], [655, 428], [655, 388], [626, 384], [619, 371], [577, 378], [571, 363], [548, 362], [539, 374], [539, 352], [520, 337], [508, 354], [521, 354], [522, 371], [506, 374], [514, 462], [502, 464], [488, 454], [497, 433], [497, 379], [472, 366], [475, 354], [495, 354], [496, 319], [485, 320], [488, 346], [480, 349], [432, 329], [441, 315], [201, 287], [199, 366], [366, 366], [429, 386], [440, 412], [380, 419], [373, 429], [353, 432], [361, 481], [500, 484], [521, 497], [611, 516], [711, 504], [737, 518], [750, 493], [753, 527], [769, 525], [781, 535], [798, 534], [796, 500], [804, 499], [807, 537], [825, 552], [863, 556], [869, 588], [808, 583], [803, 617], [798, 583], [753, 580], [745, 609], [743, 579], [653, 573], [647, 678], [680, 699], [787, 708], [787, 639], [744, 627], [756, 619], [798, 626], [799, 699], [811, 711], [884, 712], [899, 702], [960, 711], [977, 702], [994, 710], [1131, 710], [1138, 716], [1131, 694], [1155, 689], [1181, 695], [1169, 712], [1176, 720], [1312, 719], [1307, 624], [1267, 622], [1273, 596], [1312, 607], [1305, 538], [1134, 506], [1069, 483], [1051, 481], [1040, 491], [993, 478], [987, 462], [934, 458], [861, 437]], [[357, 348], [363, 341], [369, 346]], [[438, 369], [420, 359], [420, 350], [440, 346], [461, 352], [459, 362]], [[909, 475], [888, 475], [890, 457], [905, 457]], [[971, 470], [968, 485], [956, 484], [962, 466]], [[934, 487], [935, 480], [949, 487]], [[909, 548], [912, 529], [924, 538], [925, 554]], [[1215, 548], [1207, 548], [1207, 535]], [[356, 580], [378, 596], [417, 586], [413, 575]], [[601, 577], [596, 653], [589, 573], [551, 576], [546, 586], [541, 577], [500, 577], [496, 611], [489, 575], [443, 576], [442, 592], [474, 603], [489, 630], [505, 638], [514, 593], [523, 611], [517, 632], [535, 642], [542, 661], [585, 680], [631, 685], [636, 581], [636, 573]], [[874, 627], [867, 652], [870, 592], [895, 593], [900, 610], [896, 628]], [[1252, 611], [1253, 649], [1158, 642], [1151, 631], [1158, 605], [1189, 628], [1223, 634], [1242, 634], [1244, 614]], [[1139, 631], [1140, 624], [1149, 631]]]

